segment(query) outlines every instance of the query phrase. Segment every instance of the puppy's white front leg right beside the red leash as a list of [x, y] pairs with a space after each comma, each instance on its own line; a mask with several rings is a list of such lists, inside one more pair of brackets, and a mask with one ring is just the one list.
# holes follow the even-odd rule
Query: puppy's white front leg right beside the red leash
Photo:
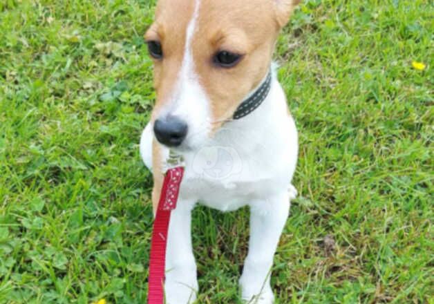
[[189, 304], [196, 299], [198, 281], [191, 247], [191, 210], [194, 202], [178, 200], [169, 223], [166, 252], [166, 303]]

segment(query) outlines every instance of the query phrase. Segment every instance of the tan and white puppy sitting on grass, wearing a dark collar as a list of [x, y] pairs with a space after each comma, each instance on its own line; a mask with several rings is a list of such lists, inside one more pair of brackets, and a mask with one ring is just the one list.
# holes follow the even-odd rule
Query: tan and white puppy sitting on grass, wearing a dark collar
[[279, 32], [300, 0], [159, 0], [145, 35], [156, 103], [140, 139], [153, 172], [154, 214], [169, 152], [185, 176], [172, 211], [166, 254], [167, 303], [198, 292], [191, 245], [197, 203], [250, 208], [243, 301], [274, 302], [273, 256], [296, 196], [298, 135], [272, 62]]

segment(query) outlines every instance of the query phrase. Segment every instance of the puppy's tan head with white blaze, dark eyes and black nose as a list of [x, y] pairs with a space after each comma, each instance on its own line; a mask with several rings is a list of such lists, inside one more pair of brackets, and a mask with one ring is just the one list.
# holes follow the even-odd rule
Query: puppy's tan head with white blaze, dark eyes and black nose
[[299, 0], [159, 0], [145, 39], [155, 61], [157, 140], [200, 146], [261, 83]]

